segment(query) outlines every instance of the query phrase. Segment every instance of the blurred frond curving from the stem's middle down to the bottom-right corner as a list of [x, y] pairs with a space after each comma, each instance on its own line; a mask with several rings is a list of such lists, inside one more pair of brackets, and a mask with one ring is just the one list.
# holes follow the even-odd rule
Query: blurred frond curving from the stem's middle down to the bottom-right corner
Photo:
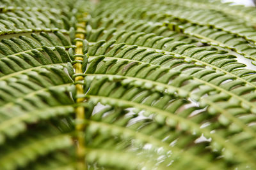
[[[216, 124], [212, 124], [213, 126], [209, 126], [204, 129], [200, 128], [200, 125], [198, 125], [198, 123], [200, 124], [200, 121], [205, 120], [205, 118], [207, 117], [205, 115], [206, 113], [202, 112], [202, 115], [196, 115], [195, 118], [191, 117], [191, 120], [185, 119], [179, 116], [179, 110], [182, 110], [179, 108], [182, 108], [182, 105], [185, 103], [182, 103], [182, 101], [178, 102], [179, 100], [172, 101], [172, 99], [170, 99], [170, 96], [168, 95], [163, 96], [163, 94], [160, 95], [159, 92], [150, 92], [150, 90], [143, 90], [140, 87], [127, 87], [128, 89], [125, 89], [125, 87], [118, 85], [118, 83], [108, 83], [108, 80], [98, 80], [98, 82], [100, 84], [93, 84], [91, 87], [97, 87], [98, 85], [100, 85], [101, 88], [99, 89], [99, 87], [97, 87], [97, 89], [91, 89], [86, 95], [89, 97], [90, 100], [93, 100], [96, 103], [100, 101], [101, 103], [108, 104], [110, 106], [117, 105], [122, 108], [137, 108], [140, 111], [145, 111], [145, 115], [147, 115], [148, 117], [150, 116], [155, 118], [155, 121], [157, 121], [158, 124], [165, 124], [171, 127], [177, 127], [182, 131], [186, 131], [187, 133], [194, 135], [203, 133], [205, 136], [212, 138], [212, 145], [218, 145], [220, 147], [224, 146], [226, 148], [225, 152], [235, 152], [237, 157], [246, 157], [246, 161], [250, 161], [249, 155], [246, 156], [244, 150], [239, 150], [239, 148], [236, 148], [236, 145], [233, 145], [232, 143], [227, 143], [224, 138], [221, 139], [218, 132], [216, 132], [216, 134], [218, 135], [216, 135], [215, 133], [210, 133], [210, 131], [213, 130], [211, 128], [214, 128]], [[113, 90], [109, 89], [110, 91], [106, 91], [104, 90], [106, 89], [106, 87], [111, 87], [111, 89]], [[143, 101], [143, 104], [141, 104], [141, 101]], [[172, 103], [168, 101], [172, 101]], [[167, 103], [168, 105], [166, 105]], [[191, 112], [187, 113], [188, 117], [195, 110], [189, 111]], [[186, 111], [183, 110], [183, 113], [185, 112]], [[209, 119], [211, 119], [211, 117], [212, 116], [210, 114]], [[223, 135], [225, 135], [225, 138], [227, 138], [227, 134]], [[234, 136], [236, 136], [236, 134], [234, 134]], [[232, 137], [230, 136], [230, 138]], [[219, 148], [219, 152], [221, 152], [221, 148]], [[214, 146], [212, 146], [212, 149], [216, 150]], [[224, 154], [226, 155], [226, 153]], [[225, 157], [225, 159], [229, 160], [234, 158]]]

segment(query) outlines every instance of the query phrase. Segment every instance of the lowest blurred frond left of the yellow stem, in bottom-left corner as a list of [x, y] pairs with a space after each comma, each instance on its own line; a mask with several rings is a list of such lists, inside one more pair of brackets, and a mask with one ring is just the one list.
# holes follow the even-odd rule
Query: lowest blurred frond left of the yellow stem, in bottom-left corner
[[42, 155], [72, 145], [69, 136], [58, 134], [54, 129], [37, 131], [36, 133], [32, 131], [26, 136], [20, 136], [20, 138], [22, 142], [17, 138], [16, 141], [8, 141], [8, 146], [1, 147], [0, 165], [2, 169], [11, 170], [17, 169], [17, 167], [26, 167], [28, 162], [33, 162]]

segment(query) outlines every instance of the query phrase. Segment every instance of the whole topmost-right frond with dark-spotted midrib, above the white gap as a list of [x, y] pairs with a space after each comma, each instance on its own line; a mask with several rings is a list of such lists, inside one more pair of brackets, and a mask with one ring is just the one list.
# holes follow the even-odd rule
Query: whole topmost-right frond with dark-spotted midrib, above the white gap
[[[140, 2], [143, 3], [143, 1]], [[237, 23], [236, 19], [230, 21], [231, 19], [227, 18], [227, 16], [216, 13], [216, 11], [209, 11], [207, 9], [192, 10], [189, 6], [173, 6], [170, 2], [169, 5], [168, 3], [161, 5], [161, 1], [157, 2], [143, 3], [144, 6], [147, 4], [147, 7], [143, 9], [129, 6], [129, 8], [122, 10], [121, 16], [150, 22], [160, 22], [170, 27], [170, 29], [200, 38], [203, 43], [225, 46], [225, 48], [230, 48], [245, 57], [255, 60], [256, 51], [253, 48], [255, 46], [255, 39], [253, 40], [255, 31], [253, 26], [249, 27], [241, 22]], [[109, 5], [107, 3], [106, 6], [97, 9], [96, 15], [111, 18], [120, 17], [120, 11], [113, 11], [113, 8], [117, 8], [115, 5], [118, 6], [120, 4]], [[150, 10], [147, 10], [148, 8]], [[161, 12], [159, 12], [159, 9], [161, 9]], [[247, 34], [250, 35], [250, 38], [246, 36]]]

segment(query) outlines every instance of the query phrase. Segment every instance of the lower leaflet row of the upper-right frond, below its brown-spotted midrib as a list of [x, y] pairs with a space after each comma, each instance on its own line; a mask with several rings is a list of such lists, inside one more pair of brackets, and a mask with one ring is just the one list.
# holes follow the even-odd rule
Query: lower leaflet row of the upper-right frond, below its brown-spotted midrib
[[[168, 8], [170, 9], [170, 8]], [[141, 9], [138, 9], [141, 10]], [[209, 11], [207, 11], [209, 12]], [[108, 11], [108, 8], [104, 8], [104, 13], [102, 16], [109, 15], [108, 17], [112, 16], [114, 18], [119, 17], [120, 13], [116, 15], [112, 11]], [[127, 8], [125, 11], [122, 11], [124, 13], [124, 18], [131, 18], [134, 19], [134, 13], [133, 8]], [[138, 13], [138, 12], [137, 12]], [[202, 12], [205, 13], [205, 12]], [[127, 16], [129, 15], [129, 16]], [[246, 39], [243, 38], [243, 36], [239, 36], [237, 38], [237, 34], [234, 34], [234, 32], [228, 32], [228, 31], [220, 31], [218, 28], [215, 29], [212, 26], [209, 26], [209, 24], [202, 25], [202, 24], [196, 24], [195, 23], [184, 23], [183, 20], [178, 20], [176, 17], [173, 17], [171, 19], [166, 19], [165, 15], [160, 15], [159, 13], [152, 13], [148, 18], [143, 17], [145, 13], [141, 13], [140, 19], [143, 20], [149, 20], [150, 22], [160, 22], [168, 25], [170, 29], [175, 29], [175, 31], [182, 31], [185, 34], [189, 34], [191, 36], [195, 36], [196, 38], [202, 39], [202, 42], [208, 42], [211, 43], [211, 45], [218, 45], [218, 46], [225, 46], [226, 48], [230, 48], [232, 50], [235, 50], [237, 53], [241, 53], [247, 58], [255, 60], [255, 49], [251, 45], [252, 43], [248, 42]], [[137, 15], [136, 15], [137, 16]], [[212, 16], [212, 15], [209, 15]], [[220, 17], [213, 17], [213, 18], [220, 18]], [[143, 30], [144, 31], [144, 30]], [[222, 34], [221, 34], [222, 32]], [[253, 29], [252, 29], [253, 32]], [[216, 35], [214, 34], [216, 33]], [[255, 63], [255, 62], [253, 62]]]

